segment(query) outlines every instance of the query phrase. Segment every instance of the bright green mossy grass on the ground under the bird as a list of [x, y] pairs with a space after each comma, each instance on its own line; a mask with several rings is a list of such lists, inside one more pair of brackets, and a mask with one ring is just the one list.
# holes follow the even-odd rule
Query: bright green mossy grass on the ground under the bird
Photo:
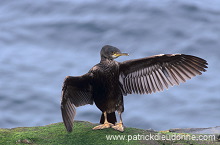
[[[18, 127], [13, 129], [0, 129], [0, 144], [33, 144], [33, 145], [105, 145], [105, 144], [218, 144], [210, 141], [141, 141], [137, 135], [150, 135], [157, 132], [146, 131], [136, 128], [125, 128], [123, 133], [112, 128], [104, 130], [92, 130], [97, 124], [75, 121], [73, 132], [68, 133], [63, 123], [55, 123], [39, 127]], [[164, 132], [163, 132], [164, 134]], [[169, 133], [165, 133], [169, 134]], [[107, 140], [106, 135], [124, 135], [125, 140]], [[128, 136], [133, 140], [128, 142]], [[135, 138], [136, 137], [136, 138]]]

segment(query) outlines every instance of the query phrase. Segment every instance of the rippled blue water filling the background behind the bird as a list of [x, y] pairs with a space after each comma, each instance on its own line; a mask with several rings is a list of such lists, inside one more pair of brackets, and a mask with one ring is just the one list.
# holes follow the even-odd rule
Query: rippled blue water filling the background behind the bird
[[[125, 126], [165, 130], [219, 126], [220, 1], [1, 1], [0, 128], [62, 121], [60, 94], [67, 75], [99, 62], [105, 44], [130, 54], [162, 53], [206, 59], [208, 71], [180, 86], [124, 98]], [[99, 122], [91, 105], [77, 120]]]

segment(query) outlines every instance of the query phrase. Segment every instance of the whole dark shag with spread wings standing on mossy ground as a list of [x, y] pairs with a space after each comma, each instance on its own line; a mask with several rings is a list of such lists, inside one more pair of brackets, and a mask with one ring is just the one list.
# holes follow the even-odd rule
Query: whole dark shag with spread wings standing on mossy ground
[[[100, 55], [100, 63], [88, 73], [67, 76], [64, 80], [61, 112], [68, 132], [73, 128], [75, 108], [93, 103], [102, 111], [101, 125], [94, 127], [94, 130], [113, 128], [123, 132], [123, 95], [163, 91], [201, 75], [208, 65], [202, 58], [185, 54], [160, 54], [117, 62], [115, 58], [128, 54], [110, 45], [105, 45]], [[120, 117], [119, 123], [116, 123], [116, 111]]]

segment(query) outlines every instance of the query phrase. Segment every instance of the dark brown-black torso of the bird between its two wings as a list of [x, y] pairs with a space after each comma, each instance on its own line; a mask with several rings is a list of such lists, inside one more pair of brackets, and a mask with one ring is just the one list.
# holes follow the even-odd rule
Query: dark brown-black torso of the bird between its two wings
[[100, 62], [90, 72], [93, 75], [93, 97], [96, 106], [102, 111], [114, 112], [122, 99], [118, 62]]

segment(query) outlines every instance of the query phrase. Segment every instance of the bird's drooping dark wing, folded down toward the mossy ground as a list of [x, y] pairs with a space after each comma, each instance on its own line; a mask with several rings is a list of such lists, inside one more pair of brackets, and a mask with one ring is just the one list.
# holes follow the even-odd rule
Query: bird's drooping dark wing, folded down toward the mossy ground
[[93, 104], [91, 77], [87, 73], [83, 76], [67, 76], [63, 83], [61, 112], [63, 122], [68, 132], [72, 131], [75, 107], [86, 104]]

